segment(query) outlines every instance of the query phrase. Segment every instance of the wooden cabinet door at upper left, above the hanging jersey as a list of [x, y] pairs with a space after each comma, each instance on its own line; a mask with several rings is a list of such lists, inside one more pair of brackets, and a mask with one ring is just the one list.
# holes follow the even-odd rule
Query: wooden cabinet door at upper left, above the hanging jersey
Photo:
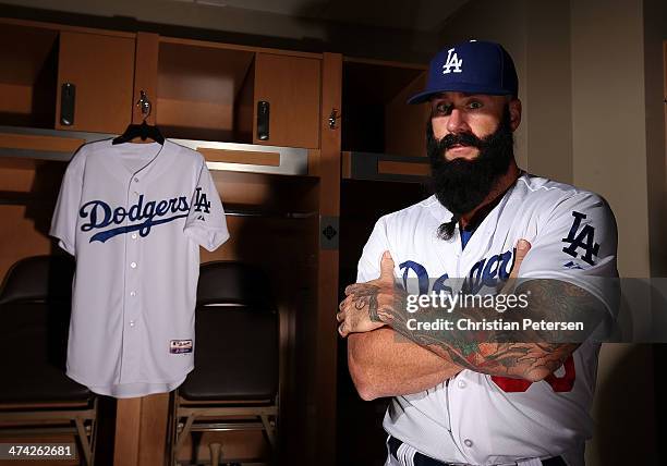
[[[62, 32], [56, 128], [119, 134], [132, 119], [135, 39], [128, 35]], [[75, 86], [74, 122], [61, 122], [61, 89]]]

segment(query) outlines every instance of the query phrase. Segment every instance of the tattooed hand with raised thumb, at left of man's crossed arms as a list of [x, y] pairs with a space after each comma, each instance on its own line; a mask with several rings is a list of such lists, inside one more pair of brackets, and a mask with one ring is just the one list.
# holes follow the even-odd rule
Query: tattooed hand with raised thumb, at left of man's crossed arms
[[387, 316], [405, 306], [405, 291], [396, 284], [393, 259], [385, 252], [380, 261], [380, 275], [367, 283], [354, 283], [345, 289], [345, 299], [340, 303], [336, 319], [338, 333], [348, 336], [354, 332], [369, 332], [387, 322]]

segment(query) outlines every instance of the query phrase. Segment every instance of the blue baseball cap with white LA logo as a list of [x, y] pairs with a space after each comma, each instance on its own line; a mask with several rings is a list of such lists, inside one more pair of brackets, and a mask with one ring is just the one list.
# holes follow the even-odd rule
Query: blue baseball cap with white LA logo
[[500, 44], [471, 40], [440, 50], [430, 61], [426, 89], [408, 99], [422, 103], [445, 91], [519, 95], [514, 62]]

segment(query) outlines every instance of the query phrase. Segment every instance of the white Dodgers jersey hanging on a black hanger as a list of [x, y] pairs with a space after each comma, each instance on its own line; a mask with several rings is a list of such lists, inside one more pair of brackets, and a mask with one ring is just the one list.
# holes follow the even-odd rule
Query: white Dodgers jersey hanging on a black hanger
[[82, 146], [50, 234], [76, 258], [68, 376], [116, 397], [181, 384], [194, 367], [199, 245], [229, 237], [202, 155], [169, 140]]

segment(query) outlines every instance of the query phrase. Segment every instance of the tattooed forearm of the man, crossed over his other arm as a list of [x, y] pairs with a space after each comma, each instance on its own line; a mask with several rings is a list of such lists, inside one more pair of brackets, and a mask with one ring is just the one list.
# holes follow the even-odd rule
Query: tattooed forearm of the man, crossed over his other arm
[[[404, 293], [404, 291], [403, 291]], [[421, 309], [420, 321], [448, 320], [448, 330], [432, 331], [410, 327], [415, 319], [405, 306], [383, 306], [379, 317], [407, 339], [450, 359], [468, 369], [494, 375], [539, 380], [556, 370], [577, 348], [590, 331], [606, 316], [602, 303], [572, 284], [557, 280], [533, 280], [523, 283], [516, 294], [527, 293], [531, 298], [526, 309], [506, 312], [506, 322], [533, 320], [583, 321], [586, 333], [568, 331], [481, 330], [460, 329], [453, 324], [459, 319], [482, 321], [489, 309], [457, 307], [451, 312], [441, 309]], [[396, 299], [396, 303], [401, 303]], [[492, 310], [492, 312], [494, 312]]]

